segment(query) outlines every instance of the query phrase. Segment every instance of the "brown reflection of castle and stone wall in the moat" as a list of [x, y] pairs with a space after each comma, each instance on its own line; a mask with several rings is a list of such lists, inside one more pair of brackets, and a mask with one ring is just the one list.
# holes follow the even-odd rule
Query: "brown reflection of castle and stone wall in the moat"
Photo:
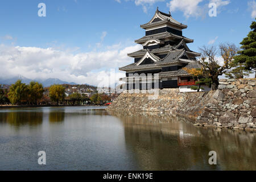
[[[256, 133], [195, 127], [171, 114], [110, 113], [121, 119], [125, 142], [143, 170], [256, 170]], [[208, 164], [217, 152], [217, 166]]]

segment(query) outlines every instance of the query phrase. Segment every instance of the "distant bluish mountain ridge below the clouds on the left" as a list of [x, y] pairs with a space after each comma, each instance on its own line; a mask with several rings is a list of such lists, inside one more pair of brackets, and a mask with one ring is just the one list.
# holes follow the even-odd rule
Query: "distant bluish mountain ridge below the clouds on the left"
[[15, 77], [12, 77], [12, 78], [0, 78], [0, 84], [11, 85], [11, 84], [14, 84], [17, 80], [22, 80], [22, 82], [24, 84], [29, 84], [31, 81], [37, 81], [37, 82], [42, 83], [44, 87], [48, 87], [48, 86], [51, 86], [53, 84], [78, 85], [75, 82], [62, 81], [59, 78], [48, 78], [46, 80], [42, 80], [42, 79], [31, 80], [31, 79], [23, 77], [21, 75], [15, 76]]

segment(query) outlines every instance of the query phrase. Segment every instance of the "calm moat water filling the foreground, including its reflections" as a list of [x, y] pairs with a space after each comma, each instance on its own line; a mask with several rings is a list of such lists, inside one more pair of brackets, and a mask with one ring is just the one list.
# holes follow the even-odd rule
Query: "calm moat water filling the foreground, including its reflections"
[[256, 170], [255, 150], [256, 133], [195, 127], [168, 114], [0, 109], [0, 170]]

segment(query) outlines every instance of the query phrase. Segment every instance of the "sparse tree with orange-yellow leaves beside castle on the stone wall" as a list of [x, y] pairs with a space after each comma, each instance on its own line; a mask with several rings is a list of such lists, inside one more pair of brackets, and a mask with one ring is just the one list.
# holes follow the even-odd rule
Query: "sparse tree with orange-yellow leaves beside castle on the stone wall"
[[[234, 65], [234, 56], [237, 54], [238, 48], [234, 44], [220, 44], [218, 50], [216, 47], [200, 48], [201, 57], [198, 60], [203, 69], [203, 75], [206, 75], [212, 80], [212, 89], [218, 88], [218, 76], [228, 72]], [[224, 63], [220, 64], [217, 60], [217, 53], [220, 53]]]

